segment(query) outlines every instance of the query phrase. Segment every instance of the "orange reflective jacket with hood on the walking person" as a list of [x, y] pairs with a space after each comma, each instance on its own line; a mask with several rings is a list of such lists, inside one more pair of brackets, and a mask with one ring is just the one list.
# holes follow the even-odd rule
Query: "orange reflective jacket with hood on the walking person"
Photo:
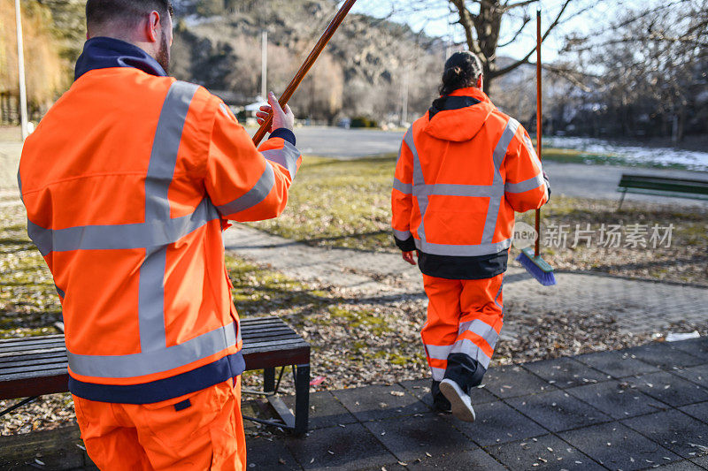
[[479, 88], [458, 89], [405, 134], [391, 198], [396, 244], [418, 249], [429, 276], [495, 277], [506, 270], [514, 211], [548, 198], [526, 130]]

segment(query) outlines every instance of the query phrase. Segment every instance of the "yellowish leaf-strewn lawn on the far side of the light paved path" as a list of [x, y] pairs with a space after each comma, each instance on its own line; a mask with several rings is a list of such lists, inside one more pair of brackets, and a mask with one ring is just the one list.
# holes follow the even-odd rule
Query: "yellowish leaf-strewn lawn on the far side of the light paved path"
[[[588, 155], [567, 149], [547, 149], [564, 162], [581, 162]], [[612, 159], [610, 156], [593, 156]], [[604, 160], [603, 160], [604, 162]], [[356, 160], [319, 157], [304, 159], [291, 188], [288, 209], [275, 220], [252, 224], [288, 239], [321, 247], [397, 252], [390, 234], [390, 191], [396, 155]], [[565, 224], [563, 247], [545, 247], [544, 254], [558, 270], [596, 270], [628, 277], [671, 279], [708, 285], [708, 224], [704, 210], [627, 201], [584, 200], [554, 194], [543, 209], [543, 225]], [[517, 215], [528, 224], [534, 212]], [[657, 250], [628, 247], [573, 247], [580, 224], [599, 230], [602, 224], [673, 224], [672, 247]], [[512, 254], [516, 253], [512, 251]]]

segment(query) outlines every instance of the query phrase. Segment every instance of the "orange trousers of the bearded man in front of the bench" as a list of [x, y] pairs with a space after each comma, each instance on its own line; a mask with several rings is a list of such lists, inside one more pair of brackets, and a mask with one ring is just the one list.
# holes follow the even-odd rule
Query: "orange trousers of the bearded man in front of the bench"
[[241, 376], [155, 404], [73, 396], [86, 451], [102, 470], [243, 470]]

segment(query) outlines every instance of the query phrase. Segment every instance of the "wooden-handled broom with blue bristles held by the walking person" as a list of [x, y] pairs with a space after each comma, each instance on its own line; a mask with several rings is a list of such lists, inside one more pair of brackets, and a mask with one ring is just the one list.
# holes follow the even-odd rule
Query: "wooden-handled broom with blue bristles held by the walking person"
[[[541, 7], [536, 9], [536, 149], [538, 158], [541, 160]], [[541, 209], [536, 209], [536, 242], [535, 250], [531, 247], [521, 249], [521, 253], [516, 257], [517, 262], [542, 285], [556, 285], [556, 277], [553, 275], [553, 267], [541, 258]]]

